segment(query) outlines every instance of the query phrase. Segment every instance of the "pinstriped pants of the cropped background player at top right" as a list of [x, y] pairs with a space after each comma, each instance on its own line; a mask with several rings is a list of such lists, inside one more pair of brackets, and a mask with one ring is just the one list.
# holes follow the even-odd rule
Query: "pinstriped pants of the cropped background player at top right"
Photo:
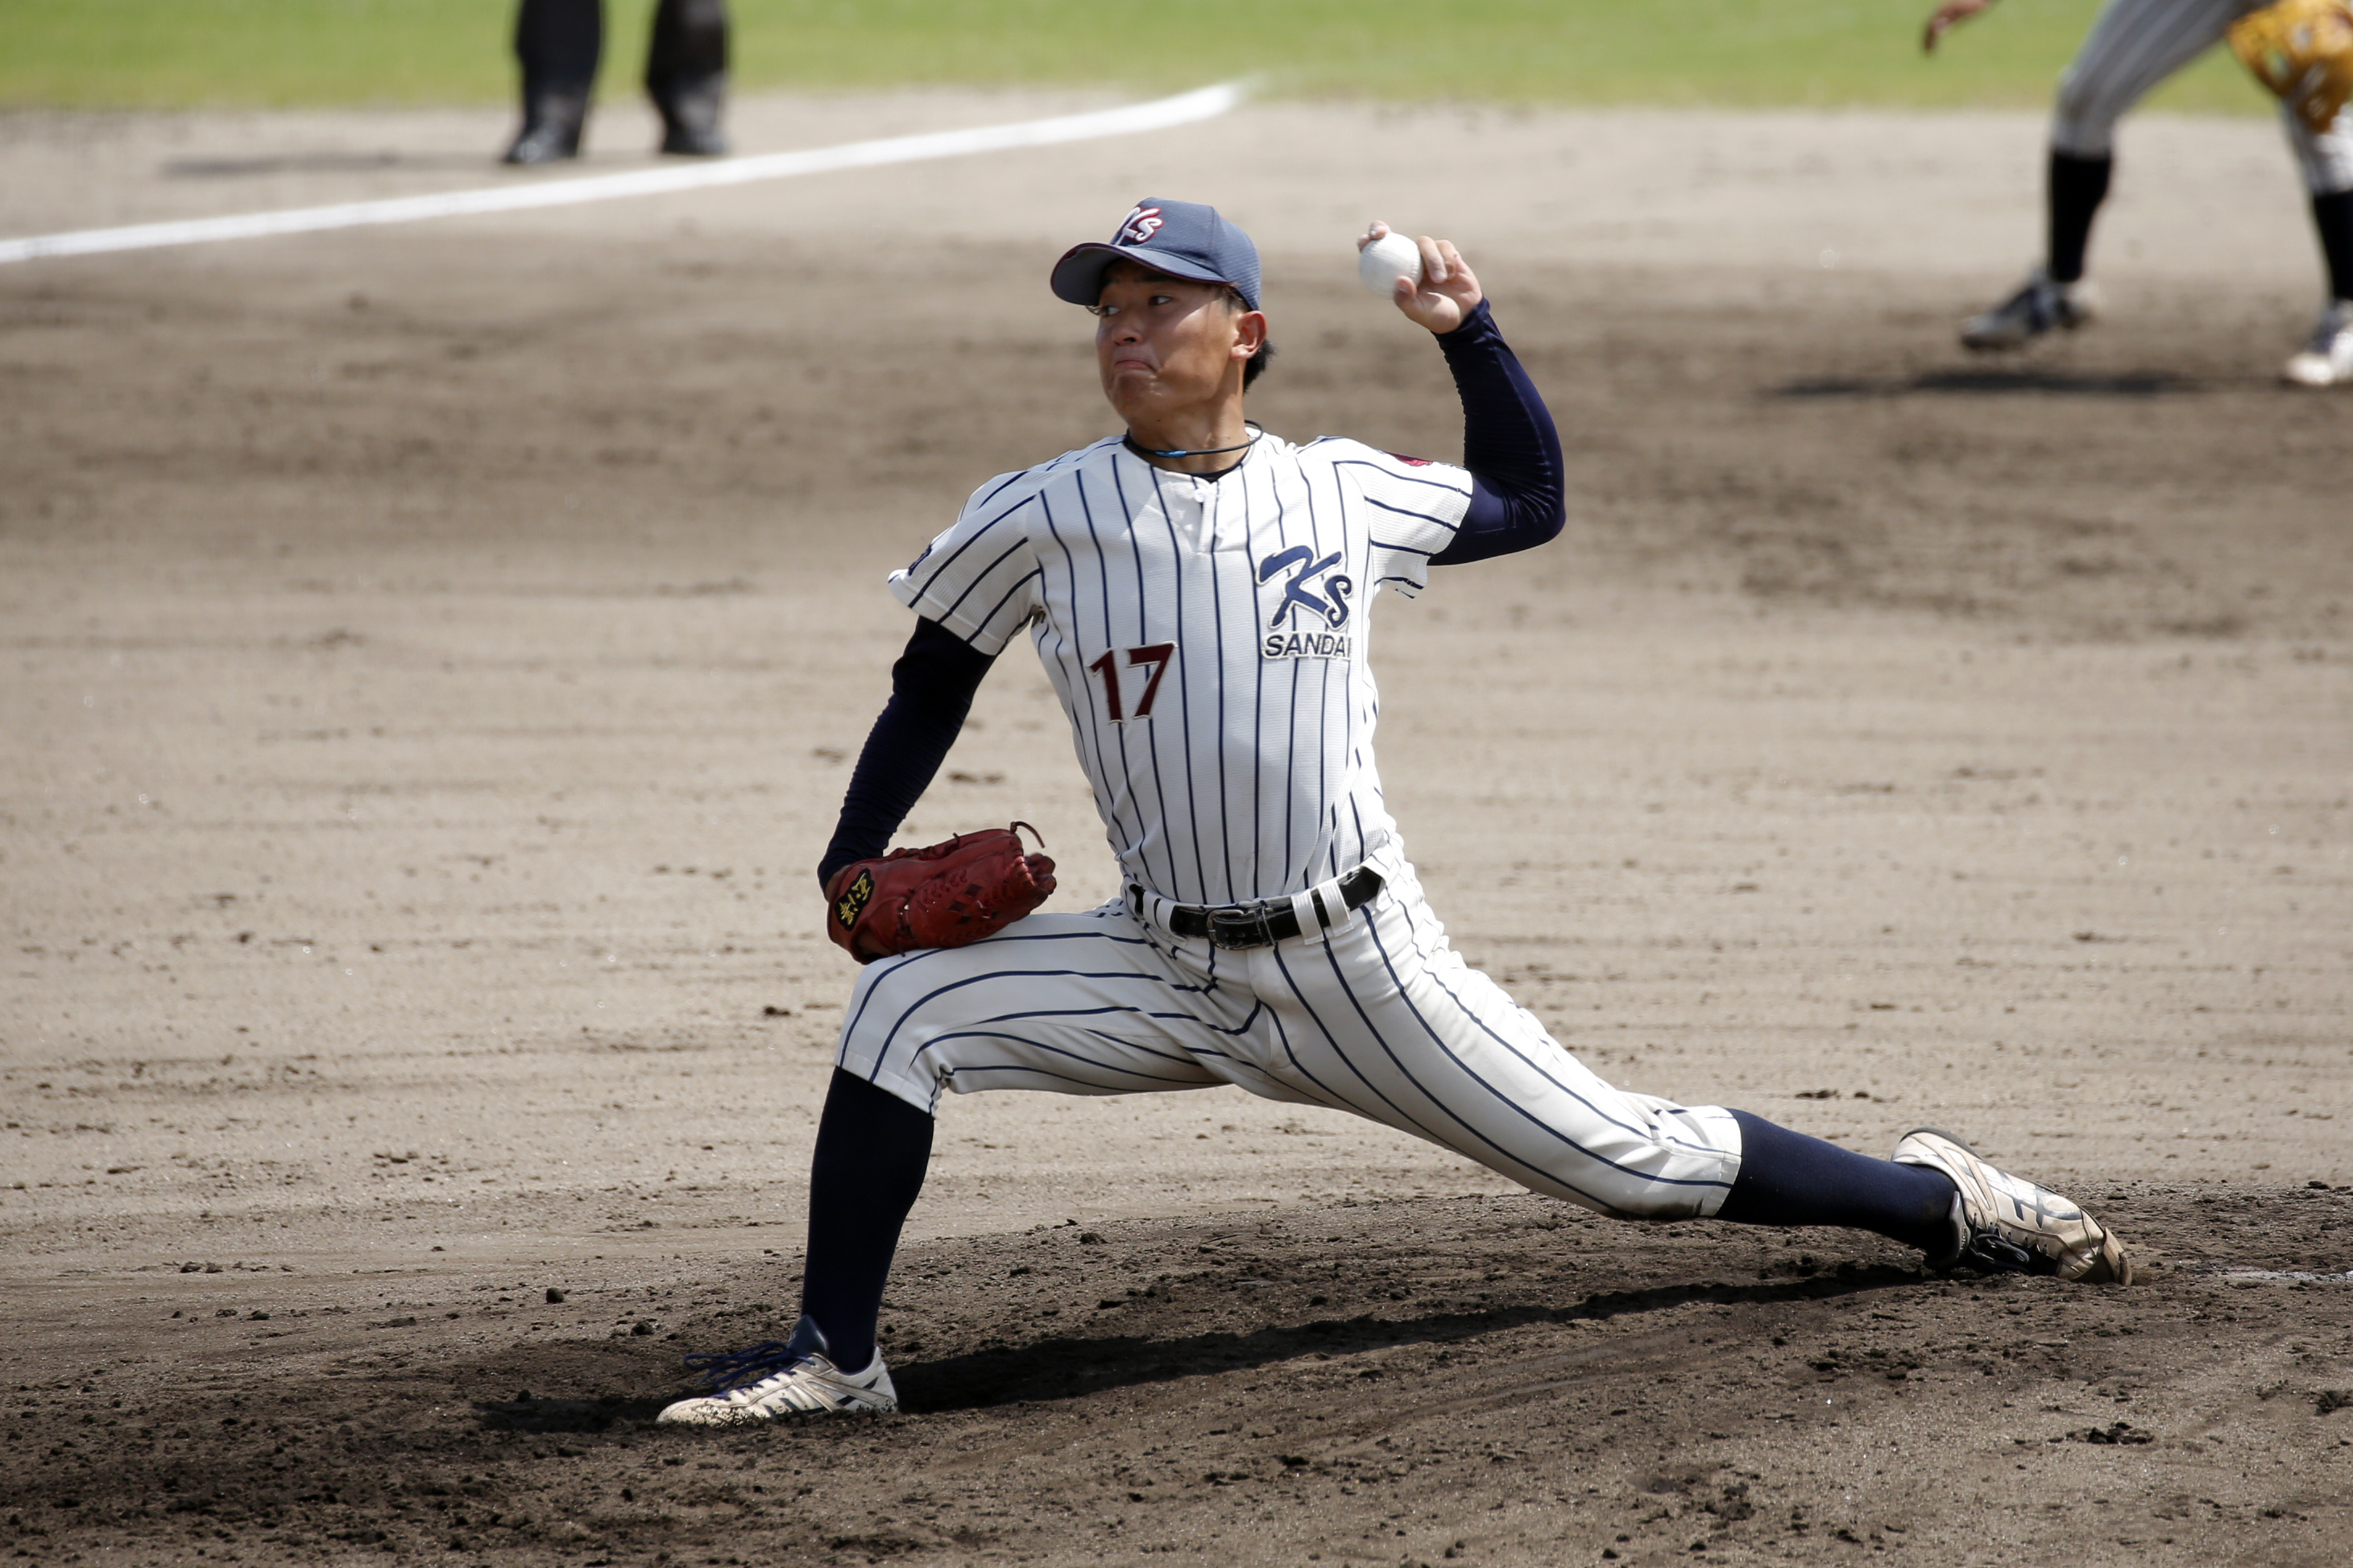
[[[2071, 158], [2106, 158], [2115, 122], [2158, 82], [2212, 49], [2231, 24], [2264, 0], [2108, 0], [2059, 75], [2052, 148]], [[2353, 125], [2337, 115], [2315, 136], [2285, 108], [2287, 141], [2297, 148], [2304, 186], [2313, 195], [2353, 190]]]

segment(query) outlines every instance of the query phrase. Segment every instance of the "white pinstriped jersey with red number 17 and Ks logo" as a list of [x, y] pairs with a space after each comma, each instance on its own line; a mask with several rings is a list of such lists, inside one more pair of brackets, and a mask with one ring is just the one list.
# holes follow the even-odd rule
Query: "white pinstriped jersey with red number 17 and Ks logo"
[[889, 585], [984, 654], [1033, 628], [1129, 882], [1275, 898], [1388, 858], [1367, 611], [1468, 503], [1362, 442], [1261, 435], [1202, 480], [1113, 437], [991, 480]]

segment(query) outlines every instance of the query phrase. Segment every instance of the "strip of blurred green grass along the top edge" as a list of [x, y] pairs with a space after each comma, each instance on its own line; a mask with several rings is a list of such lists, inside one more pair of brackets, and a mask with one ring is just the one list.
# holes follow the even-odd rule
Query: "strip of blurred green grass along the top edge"
[[[654, 0], [612, 0], [605, 94], [635, 92]], [[1285, 96], [1501, 103], [2012, 106], [2099, 0], [2007, 0], [1922, 59], [1927, 0], [734, 0], [760, 87], [1254, 78]], [[0, 0], [0, 106], [485, 103], [513, 0]], [[2217, 52], [2155, 106], [2264, 113]]]

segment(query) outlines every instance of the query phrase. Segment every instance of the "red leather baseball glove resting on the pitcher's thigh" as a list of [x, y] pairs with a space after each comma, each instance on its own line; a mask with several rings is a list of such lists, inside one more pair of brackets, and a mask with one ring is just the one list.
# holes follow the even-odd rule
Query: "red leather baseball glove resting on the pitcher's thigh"
[[1054, 863], [1024, 853], [1021, 827], [1038, 832], [1014, 823], [852, 860], [826, 879], [826, 936], [859, 964], [995, 936], [1054, 891]]

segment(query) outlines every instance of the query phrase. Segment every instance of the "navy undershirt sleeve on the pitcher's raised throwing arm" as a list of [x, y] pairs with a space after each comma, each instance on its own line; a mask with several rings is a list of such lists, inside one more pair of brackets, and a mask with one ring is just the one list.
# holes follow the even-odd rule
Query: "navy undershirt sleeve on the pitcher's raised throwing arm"
[[1487, 301], [1461, 327], [1440, 334], [1438, 348], [1464, 400], [1471, 510], [1431, 564], [1461, 567], [1551, 543], [1567, 522], [1560, 433]]

